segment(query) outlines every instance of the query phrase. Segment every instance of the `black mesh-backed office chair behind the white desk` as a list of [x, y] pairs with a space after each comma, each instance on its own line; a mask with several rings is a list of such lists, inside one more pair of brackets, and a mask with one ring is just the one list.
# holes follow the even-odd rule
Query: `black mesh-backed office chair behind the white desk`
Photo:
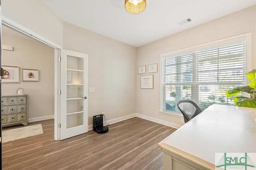
[[202, 112], [199, 106], [192, 100], [180, 100], [178, 101], [177, 106], [183, 114], [185, 123]]

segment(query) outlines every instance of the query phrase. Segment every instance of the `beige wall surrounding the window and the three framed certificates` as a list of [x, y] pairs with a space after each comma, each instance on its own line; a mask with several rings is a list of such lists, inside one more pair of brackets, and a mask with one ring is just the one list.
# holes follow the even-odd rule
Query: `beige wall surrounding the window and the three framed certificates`
[[184, 124], [183, 118], [166, 114], [156, 114], [156, 110], [160, 110], [160, 54], [247, 32], [252, 32], [251, 67], [256, 68], [256, 6], [251, 6], [139, 47], [137, 52], [137, 66], [158, 63], [159, 71], [154, 73], [153, 90], [140, 89], [140, 75], [137, 75], [137, 113], [176, 124]]

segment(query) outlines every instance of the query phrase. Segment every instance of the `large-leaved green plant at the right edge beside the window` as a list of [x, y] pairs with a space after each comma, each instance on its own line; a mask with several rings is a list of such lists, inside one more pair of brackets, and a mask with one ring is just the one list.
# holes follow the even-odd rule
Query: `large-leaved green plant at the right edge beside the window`
[[235, 96], [240, 92], [246, 92], [250, 94], [250, 98], [245, 96], [235, 96], [234, 103], [236, 106], [256, 108], [256, 69], [247, 72], [246, 76], [249, 79], [248, 86], [238, 86], [232, 88], [226, 92], [227, 97]]

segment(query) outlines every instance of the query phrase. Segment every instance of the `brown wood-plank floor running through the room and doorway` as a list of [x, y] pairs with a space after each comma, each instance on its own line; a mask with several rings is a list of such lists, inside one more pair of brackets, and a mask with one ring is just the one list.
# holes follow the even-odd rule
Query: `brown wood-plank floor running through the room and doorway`
[[90, 130], [56, 141], [53, 119], [33, 124], [42, 124], [44, 134], [2, 144], [3, 170], [160, 170], [157, 144], [176, 130], [136, 117], [105, 134]]

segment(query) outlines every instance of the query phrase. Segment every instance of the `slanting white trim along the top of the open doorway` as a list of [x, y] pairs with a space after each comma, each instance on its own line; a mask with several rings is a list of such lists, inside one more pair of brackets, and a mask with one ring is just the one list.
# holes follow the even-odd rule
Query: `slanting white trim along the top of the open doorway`
[[5, 26], [8, 26], [10, 28], [12, 28], [13, 30], [16, 30], [22, 34], [25, 34], [33, 39], [36, 39], [40, 42], [43, 42], [44, 44], [47, 44], [48, 46], [51, 46], [53, 48], [56, 48], [56, 49], [62, 49], [62, 46], [48, 40], [47, 38], [44, 38], [43, 36], [37, 34], [36, 32], [18, 24], [17, 22], [14, 22], [13, 20], [5, 17], [5, 16], [2, 16], [2, 24], [5, 25]]

